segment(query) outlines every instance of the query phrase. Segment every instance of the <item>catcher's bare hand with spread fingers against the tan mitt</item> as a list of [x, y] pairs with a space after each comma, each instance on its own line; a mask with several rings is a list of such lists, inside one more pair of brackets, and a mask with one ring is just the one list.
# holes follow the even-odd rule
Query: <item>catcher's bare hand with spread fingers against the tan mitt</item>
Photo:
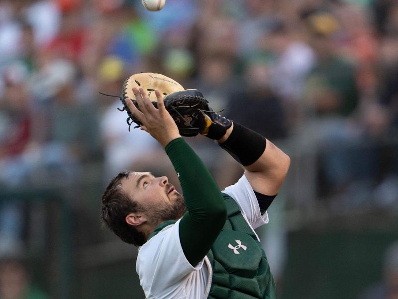
[[131, 114], [143, 124], [140, 127], [141, 130], [148, 132], [163, 147], [166, 147], [172, 140], [181, 137], [176, 123], [165, 108], [163, 96], [158, 90], [155, 90], [158, 108], [153, 106], [142, 88], [139, 90], [133, 88], [133, 93], [139, 110], [129, 98], [126, 99], [126, 104]]

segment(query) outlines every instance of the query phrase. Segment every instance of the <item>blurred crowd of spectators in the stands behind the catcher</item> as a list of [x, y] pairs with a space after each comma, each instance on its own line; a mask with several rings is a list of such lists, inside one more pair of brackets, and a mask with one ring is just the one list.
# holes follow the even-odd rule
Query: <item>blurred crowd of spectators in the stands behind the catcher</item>
[[[119, 99], [99, 94], [119, 96], [138, 72], [199, 89], [293, 157], [315, 152], [319, 197], [397, 206], [397, 1], [167, 0], [149, 12], [133, 0], [2, 0], [0, 187], [170, 171], [149, 135], [128, 132]], [[225, 169], [209, 141], [189, 142]], [[16, 222], [3, 217], [0, 238]]]

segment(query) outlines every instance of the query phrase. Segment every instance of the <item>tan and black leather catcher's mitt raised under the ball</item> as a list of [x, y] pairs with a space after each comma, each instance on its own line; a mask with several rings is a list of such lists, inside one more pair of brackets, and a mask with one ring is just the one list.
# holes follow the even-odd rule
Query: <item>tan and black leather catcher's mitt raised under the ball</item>
[[165, 96], [165, 108], [176, 122], [180, 135], [192, 137], [199, 134], [204, 120], [203, 112], [209, 111], [207, 100], [198, 90], [184, 90], [184, 87], [173, 79], [154, 73], [134, 74], [124, 81], [120, 98], [123, 109], [119, 110], [125, 110], [128, 114], [129, 131], [132, 123], [137, 124], [134, 128], [142, 126], [141, 122], [130, 113], [125, 102], [126, 98], [132, 99], [133, 104], [140, 110], [137, 101], [134, 100], [133, 87], [148, 91], [148, 97], [156, 108], [158, 103], [154, 91], [159, 90]]

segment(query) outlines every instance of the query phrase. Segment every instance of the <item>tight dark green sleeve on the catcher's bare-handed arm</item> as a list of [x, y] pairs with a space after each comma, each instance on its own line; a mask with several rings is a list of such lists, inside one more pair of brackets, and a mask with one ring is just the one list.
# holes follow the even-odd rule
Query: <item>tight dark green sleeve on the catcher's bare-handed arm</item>
[[166, 153], [173, 163], [187, 213], [180, 221], [180, 242], [191, 265], [207, 254], [226, 220], [221, 192], [199, 156], [182, 138], [171, 141]]

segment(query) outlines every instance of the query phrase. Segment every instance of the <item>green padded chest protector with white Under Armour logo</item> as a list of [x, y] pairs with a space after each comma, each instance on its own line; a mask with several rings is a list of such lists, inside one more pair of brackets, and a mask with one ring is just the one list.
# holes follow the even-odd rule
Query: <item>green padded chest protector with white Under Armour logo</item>
[[[224, 193], [223, 197], [228, 218], [207, 253], [212, 268], [207, 298], [275, 299], [274, 279], [260, 242], [235, 200]], [[172, 223], [175, 221], [166, 221], [154, 234]]]

